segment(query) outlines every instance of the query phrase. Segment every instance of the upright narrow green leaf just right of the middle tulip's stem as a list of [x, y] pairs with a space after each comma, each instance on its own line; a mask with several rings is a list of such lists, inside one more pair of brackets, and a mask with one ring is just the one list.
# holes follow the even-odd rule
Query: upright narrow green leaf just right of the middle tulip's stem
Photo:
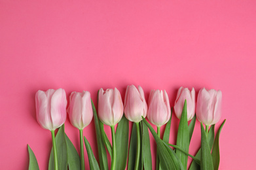
[[149, 129], [147, 129], [147, 125], [145, 122], [142, 122], [142, 146], [141, 146], [141, 154], [143, 160], [143, 167], [145, 170], [152, 169], [152, 157], [151, 157], [151, 146], [149, 139]]

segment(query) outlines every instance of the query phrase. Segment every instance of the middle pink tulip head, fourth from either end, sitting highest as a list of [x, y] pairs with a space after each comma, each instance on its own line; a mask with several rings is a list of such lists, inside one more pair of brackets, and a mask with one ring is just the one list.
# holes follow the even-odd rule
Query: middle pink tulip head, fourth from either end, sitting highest
[[140, 122], [147, 116], [147, 103], [141, 86], [127, 86], [124, 99], [124, 114], [132, 122]]

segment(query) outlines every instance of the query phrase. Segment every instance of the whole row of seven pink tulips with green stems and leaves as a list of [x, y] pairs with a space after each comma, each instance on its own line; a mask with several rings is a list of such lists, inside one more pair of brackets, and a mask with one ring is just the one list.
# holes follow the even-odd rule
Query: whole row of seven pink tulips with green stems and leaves
[[[146, 102], [141, 86], [128, 86], [123, 103], [117, 88], [105, 91], [101, 88], [98, 91], [98, 112], [90, 98], [90, 92], [72, 92], [69, 107], [66, 109], [65, 90], [39, 90], [35, 95], [37, 122], [52, 134], [48, 169], [85, 169], [84, 144], [90, 169], [109, 169], [107, 152], [111, 158], [111, 170], [126, 167], [136, 170], [219, 169], [219, 135], [225, 121], [217, 133], [214, 130], [215, 124], [221, 118], [221, 98], [220, 90], [202, 88], [196, 102], [194, 88], [179, 88], [174, 104], [175, 115], [180, 120], [177, 141], [170, 144], [172, 109], [165, 90], [151, 90], [149, 101]], [[65, 133], [64, 122], [67, 113], [71, 124], [79, 129], [80, 156]], [[146, 117], [156, 126], [156, 131], [145, 120]], [[82, 133], [92, 118], [96, 129], [98, 161]], [[201, 122], [201, 146], [197, 154], [192, 156], [189, 154], [189, 145], [196, 118]], [[129, 121], [133, 122], [130, 137]], [[112, 143], [104, 131], [104, 124], [111, 128]], [[160, 134], [160, 127], [164, 124], [164, 134]], [[56, 129], [58, 133], [55, 136]], [[156, 167], [152, 167], [149, 131], [156, 142]], [[35, 154], [29, 146], [28, 150], [29, 169], [39, 169]], [[188, 156], [193, 160], [190, 166], [187, 163]]]

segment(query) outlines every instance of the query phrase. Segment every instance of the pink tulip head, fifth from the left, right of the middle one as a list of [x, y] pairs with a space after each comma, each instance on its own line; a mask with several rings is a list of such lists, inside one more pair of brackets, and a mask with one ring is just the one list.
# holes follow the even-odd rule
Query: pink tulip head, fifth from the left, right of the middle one
[[162, 126], [168, 122], [171, 116], [169, 98], [164, 90], [151, 90], [149, 95], [149, 110], [147, 118], [152, 124]]

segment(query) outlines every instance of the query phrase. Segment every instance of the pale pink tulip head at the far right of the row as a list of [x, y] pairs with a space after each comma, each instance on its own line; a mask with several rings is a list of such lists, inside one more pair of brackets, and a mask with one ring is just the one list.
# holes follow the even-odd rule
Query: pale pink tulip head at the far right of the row
[[206, 126], [219, 122], [221, 119], [221, 98], [221, 90], [206, 90], [202, 88], [197, 97], [197, 119]]

